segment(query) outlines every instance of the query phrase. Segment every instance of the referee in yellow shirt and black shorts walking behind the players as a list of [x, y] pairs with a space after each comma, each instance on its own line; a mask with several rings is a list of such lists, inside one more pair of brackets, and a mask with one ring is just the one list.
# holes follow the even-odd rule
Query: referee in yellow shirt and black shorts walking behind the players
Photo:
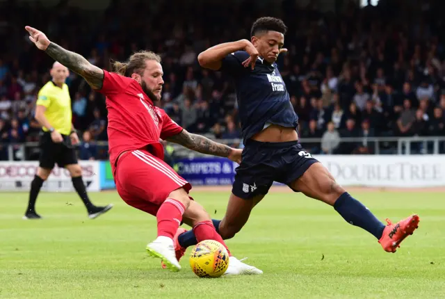
[[57, 163], [60, 168], [67, 168], [72, 177], [72, 184], [81, 197], [88, 211], [90, 219], [97, 218], [113, 207], [96, 207], [86, 193], [82, 180], [81, 166], [77, 162], [73, 145], [79, 143], [79, 137], [72, 125], [71, 98], [65, 80], [69, 76], [67, 67], [54, 63], [51, 68], [52, 80], [46, 83], [38, 93], [35, 108], [35, 119], [42, 126], [40, 137], [40, 165], [31, 183], [29, 204], [24, 219], [40, 219], [35, 212], [37, 200], [42, 184], [49, 177], [51, 170]]

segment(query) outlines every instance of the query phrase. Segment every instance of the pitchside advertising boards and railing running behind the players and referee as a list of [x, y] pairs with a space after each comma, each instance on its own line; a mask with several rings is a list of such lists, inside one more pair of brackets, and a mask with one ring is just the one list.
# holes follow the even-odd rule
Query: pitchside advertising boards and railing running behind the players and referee
[[[232, 146], [241, 140], [217, 140]], [[302, 138], [301, 143], [317, 152], [320, 139]], [[307, 147], [310, 145], [310, 148]], [[372, 154], [313, 154], [343, 186], [426, 188], [445, 186], [445, 137], [410, 138], [343, 138], [341, 145], [349, 149], [368, 146]], [[38, 143], [1, 145], [7, 150], [8, 161], [0, 161], [0, 191], [28, 191], [38, 167], [38, 161], [26, 159], [38, 156]], [[170, 160], [184, 179], [194, 186], [230, 185], [236, 163], [225, 158], [191, 152], [184, 147], [175, 149]], [[97, 143], [106, 152], [107, 143]], [[242, 145], [241, 145], [242, 147]], [[3, 152], [4, 153], [4, 152]], [[88, 191], [115, 188], [113, 173], [107, 159], [81, 161], [83, 179]], [[67, 170], [55, 168], [44, 183], [45, 191], [73, 191]]]

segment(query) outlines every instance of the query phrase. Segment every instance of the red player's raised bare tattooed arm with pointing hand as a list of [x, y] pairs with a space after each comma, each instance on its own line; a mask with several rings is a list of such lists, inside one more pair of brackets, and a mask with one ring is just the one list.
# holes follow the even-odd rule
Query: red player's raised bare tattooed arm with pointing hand
[[102, 88], [104, 81], [104, 71], [99, 67], [92, 65], [83, 56], [76, 54], [72, 51], [68, 51], [50, 42], [47, 35], [44, 35], [42, 31], [26, 26], [26, 31], [29, 32], [29, 39], [35, 44], [38, 49], [45, 51], [49, 56], [59, 63], [65, 65], [73, 72], [83, 76], [92, 89], [99, 90]]

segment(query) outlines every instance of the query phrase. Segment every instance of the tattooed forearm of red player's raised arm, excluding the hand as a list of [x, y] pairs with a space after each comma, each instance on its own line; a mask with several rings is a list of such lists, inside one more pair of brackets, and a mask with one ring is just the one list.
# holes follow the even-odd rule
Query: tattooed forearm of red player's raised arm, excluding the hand
[[45, 52], [57, 60], [59, 63], [65, 65], [73, 72], [83, 76], [83, 78], [88, 82], [88, 84], [93, 89], [101, 89], [102, 82], [104, 81], [104, 71], [99, 69], [99, 67], [92, 65], [83, 56], [68, 51], [60, 47], [59, 45], [51, 42]]

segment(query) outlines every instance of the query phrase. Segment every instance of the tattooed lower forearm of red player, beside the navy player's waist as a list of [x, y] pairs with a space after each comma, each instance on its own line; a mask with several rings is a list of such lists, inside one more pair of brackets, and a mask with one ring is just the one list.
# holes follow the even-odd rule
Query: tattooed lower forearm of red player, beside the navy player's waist
[[182, 130], [181, 133], [171, 136], [167, 140], [202, 154], [213, 154], [213, 156], [227, 157], [231, 151], [231, 148], [227, 145], [216, 143], [204, 136], [190, 134], [186, 130]]

